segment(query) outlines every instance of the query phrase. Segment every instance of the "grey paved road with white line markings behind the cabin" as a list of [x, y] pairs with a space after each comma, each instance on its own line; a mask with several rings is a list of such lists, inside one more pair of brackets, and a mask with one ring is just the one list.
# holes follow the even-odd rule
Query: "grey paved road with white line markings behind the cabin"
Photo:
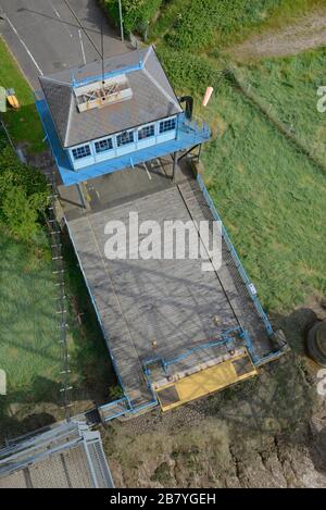
[[[103, 20], [104, 54], [127, 51], [118, 34], [109, 27], [96, 0], [70, 0], [70, 5], [99, 51]], [[1, 9], [5, 20], [0, 22], [0, 34], [35, 89], [39, 89], [40, 74], [100, 58], [63, 0], [0, 0], [0, 12]]]

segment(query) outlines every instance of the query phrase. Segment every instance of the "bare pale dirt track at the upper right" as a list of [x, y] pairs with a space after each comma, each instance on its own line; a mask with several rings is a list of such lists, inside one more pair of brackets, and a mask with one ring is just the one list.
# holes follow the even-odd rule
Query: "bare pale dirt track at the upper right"
[[267, 30], [254, 36], [229, 53], [236, 59], [287, 57], [301, 51], [326, 46], [326, 14], [314, 12], [278, 30]]

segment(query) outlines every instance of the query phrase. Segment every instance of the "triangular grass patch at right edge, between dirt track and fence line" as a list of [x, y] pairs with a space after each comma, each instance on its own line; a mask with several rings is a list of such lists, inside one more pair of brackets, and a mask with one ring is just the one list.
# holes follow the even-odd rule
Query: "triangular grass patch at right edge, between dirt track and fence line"
[[259, 64], [237, 65], [241, 83], [302, 146], [326, 164], [326, 114], [318, 113], [317, 89], [325, 84], [326, 48]]

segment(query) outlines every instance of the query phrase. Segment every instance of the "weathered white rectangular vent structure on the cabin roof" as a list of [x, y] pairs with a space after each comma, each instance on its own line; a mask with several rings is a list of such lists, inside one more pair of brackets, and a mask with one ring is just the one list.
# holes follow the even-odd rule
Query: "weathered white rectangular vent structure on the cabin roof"
[[133, 90], [125, 74], [98, 80], [74, 89], [79, 112], [125, 101], [133, 97]]

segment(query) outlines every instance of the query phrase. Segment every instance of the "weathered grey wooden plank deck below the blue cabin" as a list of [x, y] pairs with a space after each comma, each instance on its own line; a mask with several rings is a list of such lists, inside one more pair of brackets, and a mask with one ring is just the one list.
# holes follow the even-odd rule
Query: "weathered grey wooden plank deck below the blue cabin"
[[200, 259], [105, 258], [105, 224], [127, 225], [129, 211], [137, 211], [139, 221], [160, 224], [213, 221], [189, 166], [178, 170], [176, 182], [171, 176], [166, 157], [92, 179], [84, 184], [87, 209], [76, 187], [59, 187], [70, 236], [133, 409], [155, 400], [155, 385], [225, 361], [238, 348], [255, 362], [277, 350], [225, 238], [216, 272], [203, 272]]

